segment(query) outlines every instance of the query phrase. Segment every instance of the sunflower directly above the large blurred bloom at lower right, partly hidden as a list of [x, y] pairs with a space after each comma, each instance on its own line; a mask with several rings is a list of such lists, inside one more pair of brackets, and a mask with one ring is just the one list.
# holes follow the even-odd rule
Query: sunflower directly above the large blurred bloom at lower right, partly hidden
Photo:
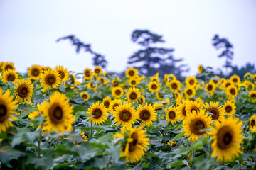
[[211, 118], [212, 120], [218, 120], [218, 121], [223, 121], [223, 119], [225, 119], [224, 117], [224, 114], [225, 113], [225, 110], [223, 108], [223, 106], [218, 106], [219, 105], [219, 102], [213, 102], [213, 101], [210, 101], [210, 104], [209, 103], [205, 103], [203, 105], [205, 111], [208, 111], [211, 113]]

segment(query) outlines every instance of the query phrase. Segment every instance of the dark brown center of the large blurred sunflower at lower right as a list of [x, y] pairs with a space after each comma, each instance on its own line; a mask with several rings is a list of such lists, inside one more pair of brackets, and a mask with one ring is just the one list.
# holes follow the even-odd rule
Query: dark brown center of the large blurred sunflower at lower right
[[228, 149], [232, 144], [232, 140], [233, 130], [230, 127], [224, 126], [218, 130], [217, 145], [220, 149]]

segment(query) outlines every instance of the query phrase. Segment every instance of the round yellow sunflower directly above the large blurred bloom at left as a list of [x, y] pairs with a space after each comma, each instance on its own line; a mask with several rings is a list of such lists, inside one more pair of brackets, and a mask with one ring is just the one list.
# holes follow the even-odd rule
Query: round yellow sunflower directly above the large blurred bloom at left
[[60, 84], [60, 74], [53, 69], [47, 69], [40, 76], [40, 82], [44, 89], [53, 89]]

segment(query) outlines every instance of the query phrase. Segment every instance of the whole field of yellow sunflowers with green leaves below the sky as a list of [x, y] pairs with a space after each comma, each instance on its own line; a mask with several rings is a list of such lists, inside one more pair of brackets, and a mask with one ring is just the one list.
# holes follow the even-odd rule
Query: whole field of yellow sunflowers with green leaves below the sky
[[0, 68], [0, 169], [256, 169], [256, 74]]

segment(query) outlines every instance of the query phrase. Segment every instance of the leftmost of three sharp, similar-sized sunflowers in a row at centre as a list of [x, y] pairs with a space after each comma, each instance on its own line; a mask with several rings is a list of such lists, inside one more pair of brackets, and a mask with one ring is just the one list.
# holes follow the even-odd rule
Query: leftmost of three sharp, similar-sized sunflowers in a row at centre
[[93, 124], [100, 125], [107, 120], [107, 108], [105, 108], [103, 103], [97, 101], [97, 103], [93, 103], [92, 106], [88, 109], [90, 115], [88, 120], [92, 121]]

